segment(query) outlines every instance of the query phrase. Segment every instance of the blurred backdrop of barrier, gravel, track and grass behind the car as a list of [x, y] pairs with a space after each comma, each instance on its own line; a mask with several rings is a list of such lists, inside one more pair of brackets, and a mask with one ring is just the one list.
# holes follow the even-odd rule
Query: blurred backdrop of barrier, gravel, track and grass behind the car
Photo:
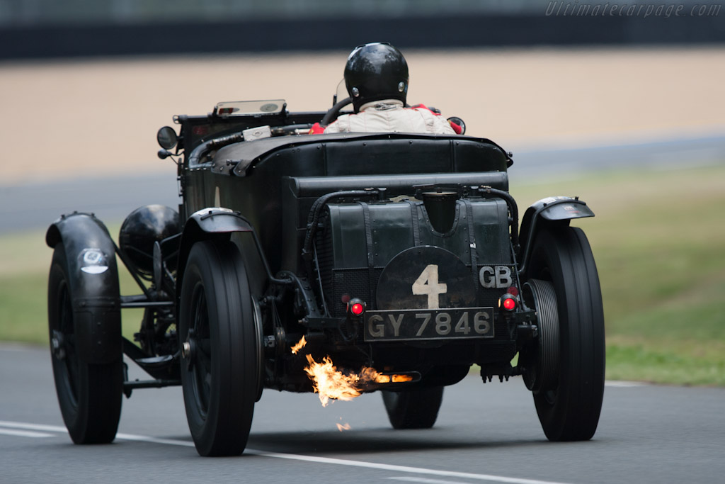
[[[46, 227], [112, 234], [178, 204], [159, 127], [216, 102], [331, 107], [347, 54], [389, 41], [411, 103], [514, 153], [523, 213], [579, 195], [608, 378], [725, 385], [724, 3], [0, 0], [0, 341], [47, 345]], [[125, 278], [127, 293], [136, 292]], [[124, 332], [140, 315], [124, 313]]]

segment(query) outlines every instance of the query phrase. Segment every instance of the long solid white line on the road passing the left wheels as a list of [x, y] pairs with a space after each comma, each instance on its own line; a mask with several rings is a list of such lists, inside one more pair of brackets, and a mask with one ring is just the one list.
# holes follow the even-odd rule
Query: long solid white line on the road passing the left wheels
[[[25, 422], [6, 422], [0, 420], [0, 426], [14, 427], [20, 429], [31, 429], [31, 430], [49, 430], [54, 432], [65, 433], [65, 427], [57, 427], [54, 425], [39, 425], [30, 424]], [[147, 435], [134, 435], [118, 433], [116, 438], [119, 440], [133, 440], [136, 442], [148, 442], [148, 443], [159, 443], [167, 446], [182, 446], [182, 447], [194, 447], [194, 443], [188, 440], [176, 440], [166, 438], [155, 438]], [[423, 467], [409, 467], [400, 466], [395, 464], [378, 464], [376, 462], [364, 462], [364, 461], [351, 461], [348, 459], [333, 459], [331, 457], [318, 457], [318, 456], [304, 456], [301, 454], [281, 454], [279, 452], [268, 452], [268, 451], [257, 451], [253, 448], [247, 448], [244, 454], [262, 456], [262, 457], [273, 457], [275, 459], [287, 459], [300, 462], [315, 462], [318, 464], [335, 464], [347, 467], [364, 467], [366, 469], [380, 469], [391, 472], [403, 472], [406, 474], [421, 474], [421, 475], [436, 475], [441, 477], [458, 477], [461, 479], [469, 480], [486, 480], [495, 483], [508, 483], [508, 484], [565, 484], [558, 481], [552, 480], [536, 480], [536, 479], [520, 479], [518, 477], [506, 477], [502, 475], [489, 475], [489, 474], [473, 474], [471, 472], [456, 472], [447, 470], [437, 469], [425, 469]], [[421, 477], [422, 478], [422, 477]], [[419, 478], [419, 479], [421, 479]], [[416, 482], [423, 483], [426, 481], [418, 480]], [[443, 481], [437, 481], [442, 483]]]

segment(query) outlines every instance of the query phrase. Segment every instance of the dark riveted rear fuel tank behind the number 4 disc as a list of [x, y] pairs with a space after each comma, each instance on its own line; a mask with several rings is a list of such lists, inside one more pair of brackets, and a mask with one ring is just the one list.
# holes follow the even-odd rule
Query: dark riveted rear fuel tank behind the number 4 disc
[[445, 232], [434, 229], [426, 206], [418, 200], [330, 204], [317, 236], [323, 291], [336, 316], [344, 315], [349, 297], [363, 298], [368, 309], [374, 309], [383, 269], [410, 247], [442, 247], [460, 258], [471, 271], [479, 305], [493, 305], [505, 290], [497, 284], [484, 287], [488, 279], [481, 280], [481, 271], [489, 276], [491, 271], [510, 274], [513, 269], [508, 206], [503, 200], [456, 200]]

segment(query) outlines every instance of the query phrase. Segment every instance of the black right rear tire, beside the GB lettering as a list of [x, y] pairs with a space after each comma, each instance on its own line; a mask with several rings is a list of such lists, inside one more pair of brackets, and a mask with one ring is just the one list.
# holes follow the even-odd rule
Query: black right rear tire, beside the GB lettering
[[556, 298], [558, 376], [534, 392], [549, 440], [589, 440], [597, 430], [604, 396], [604, 311], [597, 266], [581, 229], [559, 227], [537, 234], [527, 279], [548, 281]]

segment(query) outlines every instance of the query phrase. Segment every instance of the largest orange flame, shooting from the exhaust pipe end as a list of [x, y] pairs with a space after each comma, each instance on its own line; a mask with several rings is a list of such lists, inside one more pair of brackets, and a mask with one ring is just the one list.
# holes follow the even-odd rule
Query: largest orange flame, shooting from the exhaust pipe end
[[320, 395], [320, 403], [327, 406], [330, 400], [349, 401], [360, 396], [370, 383], [410, 382], [413, 377], [405, 374], [380, 374], [374, 368], [363, 366], [360, 374], [344, 374], [337, 370], [329, 356], [318, 363], [312, 355], [305, 355], [308, 366], [305, 373], [312, 380], [312, 389]]

